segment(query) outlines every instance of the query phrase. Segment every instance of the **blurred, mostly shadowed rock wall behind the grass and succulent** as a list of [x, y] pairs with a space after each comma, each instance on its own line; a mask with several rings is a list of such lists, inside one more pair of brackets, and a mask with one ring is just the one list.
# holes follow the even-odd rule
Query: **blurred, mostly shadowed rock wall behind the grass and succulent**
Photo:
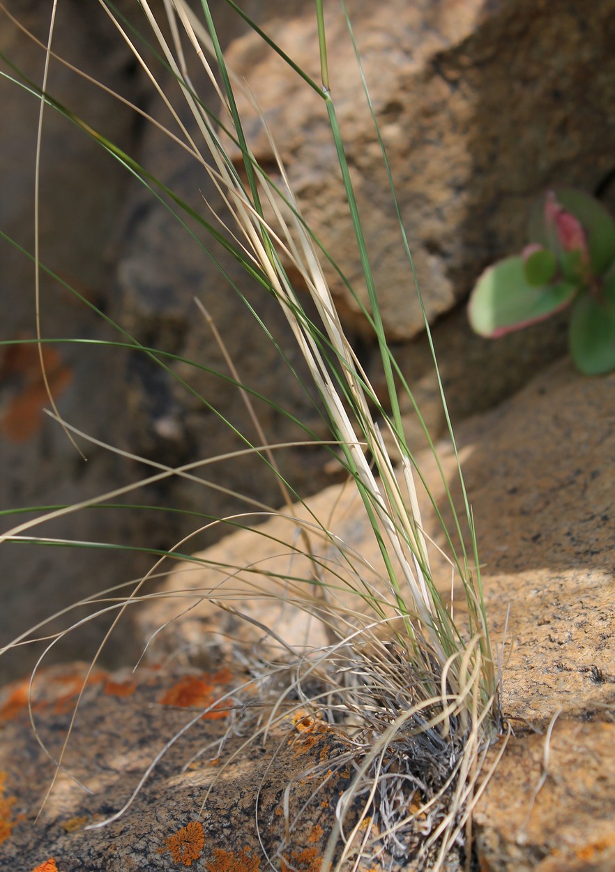
[[[136, 3], [121, 4], [139, 20]], [[281, 64], [221, 0], [212, 3], [228, 60], [258, 93], [308, 221], [355, 280], [359, 263], [337, 183], [335, 152], [321, 101]], [[47, 4], [9, 0], [8, 10], [46, 38]], [[242, 3], [291, 57], [318, 75], [312, 8], [268, 0]], [[544, 187], [575, 185], [615, 204], [615, 9], [597, 0], [388, 0], [349, 4], [375, 111], [400, 198], [416, 271], [434, 327], [434, 340], [453, 421], [497, 405], [565, 351], [565, 317], [490, 343], [473, 336], [463, 303], [485, 265], [519, 249], [531, 202]], [[346, 24], [328, 10], [330, 64], [348, 161], [354, 174], [391, 343], [432, 428], [442, 412], [422, 319], [396, 229], [382, 157], [362, 99]], [[117, 32], [95, 3], [66, 0], [58, 9], [55, 51], [147, 112], [167, 120]], [[3, 14], [3, 54], [40, 82], [44, 55]], [[2, 62], [4, 72], [10, 67]], [[171, 78], [166, 86], [173, 87]], [[195, 208], [215, 208], [217, 194], [186, 153], [143, 119], [54, 62], [49, 91], [117, 143]], [[38, 104], [0, 81], [0, 229], [33, 250], [34, 155]], [[256, 156], [272, 155], [256, 122]], [[41, 181], [41, 261], [139, 342], [226, 372], [193, 296], [205, 303], [225, 337], [241, 378], [292, 412], [321, 436], [326, 430], [313, 397], [294, 379], [220, 271], [166, 208], [83, 132], [46, 111]], [[197, 230], [199, 238], [205, 235]], [[31, 262], [3, 242], [1, 338], [36, 335]], [[216, 256], [263, 317], [301, 376], [294, 342], [271, 301], [241, 270]], [[368, 371], [374, 349], [354, 301], [339, 288], [341, 314]], [[361, 291], [361, 287], [359, 286]], [[42, 281], [44, 337], [117, 340], [109, 324], [49, 278]], [[227, 426], [176, 381], [135, 352], [75, 344], [44, 346], [51, 388], [65, 419], [132, 454], [176, 466], [240, 447]], [[240, 431], [252, 434], [233, 385], [172, 364]], [[33, 345], [0, 349], [1, 508], [57, 505], [90, 499], [139, 480], [149, 467], [104, 448], [83, 445], [84, 463], [48, 406]], [[408, 410], [406, 410], [408, 411]], [[301, 430], [260, 404], [274, 441], [301, 439]], [[415, 427], [410, 423], [410, 434]], [[331, 481], [328, 455], [280, 453], [279, 462], [301, 495]], [[215, 484], [278, 504], [272, 476], [256, 461], [209, 467]], [[244, 510], [220, 491], [184, 480], [160, 482], [129, 502], [172, 506], [207, 515]], [[24, 520], [4, 519], [3, 527]], [[201, 521], [153, 510], [90, 509], [28, 531], [131, 548], [169, 548]], [[206, 521], [202, 521], [206, 523]], [[220, 535], [214, 529], [188, 543], [196, 550]], [[152, 565], [152, 556], [126, 551], [3, 545], [0, 642], [82, 596], [124, 582]], [[76, 613], [78, 614], [78, 613]], [[108, 623], [108, 622], [107, 622]], [[91, 653], [101, 629], [71, 634], [57, 657]], [[109, 661], [132, 656], [130, 634], [107, 651]], [[61, 650], [60, 650], [61, 649]], [[55, 651], [51, 652], [51, 657]], [[22, 650], [0, 660], [3, 678], [30, 668]]]

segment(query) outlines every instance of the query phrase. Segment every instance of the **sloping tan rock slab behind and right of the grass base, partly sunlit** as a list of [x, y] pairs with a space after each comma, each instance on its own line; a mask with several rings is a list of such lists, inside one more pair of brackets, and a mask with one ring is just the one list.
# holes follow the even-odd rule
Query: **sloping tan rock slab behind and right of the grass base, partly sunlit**
[[[615, 375], [587, 379], [572, 371], [571, 364], [558, 364], [514, 399], [468, 421], [456, 433], [479, 535], [487, 614], [500, 650], [503, 713], [517, 736], [510, 740], [510, 750], [477, 807], [477, 849], [483, 869], [537, 869], [537, 858], [544, 858], [544, 869], [558, 869], [558, 857], [569, 864], [561, 868], [571, 872], [582, 868], [578, 863], [584, 857], [598, 862], [596, 869], [609, 868], [612, 845], [607, 835], [615, 811], [615, 793], [609, 787], [615, 778], [609, 738], [615, 703], [609, 644], [615, 602], [613, 385]], [[440, 455], [459, 505], [454, 457], [446, 446]], [[417, 460], [436, 501], [444, 505], [443, 484], [433, 459], [423, 451]], [[309, 501], [308, 508], [326, 519], [327, 527], [351, 548], [360, 549], [377, 573], [378, 549], [354, 494], [329, 488]], [[446, 508], [443, 514], [450, 524]], [[433, 513], [425, 510], [423, 522], [443, 545]], [[239, 566], [246, 555], [254, 569], [282, 574], [290, 557], [287, 550], [280, 556], [280, 539], [291, 541], [293, 526], [291, 521], [267, 521], [258, 532], [228, 536], [197, 555], [211, 566], [181, 566], [166, 584], [166, 598], [152, 603], [139, 617], [144, 644], [152, 640], [151, 656], [206, 664], [211, 656], [262, 651], [260, 629], [248, 626], [239, 642], [229, 640], [228, 635], [237, 633], [236, 617], [224, 615], [220, 623], [218, 607], [207, 602], [194, 605], [196, 597], [186, 596], [186, 590], [204, 596], [223, 580], [226, 568]], [[331, 558], [325, 548], [321, 555]], [[442, 589], [447, 589], [446, 563], [436, 557], [435, 568]], [[339, 563], [335, 569], [340, 569]], [[293, 576], [306, 573], [306, 565], [297, 559]], [[286, 623], [279, 604], [267, 605], [257, 598], [252, 612], [255, 587], [265, 593], [279, 589], [271, 576], [233, 571], [225, 584], [230, 585], [228, 599], [235, 608], [254, 614], [261, 623], [274, 622], [276, 632], [288, 643], [298, 641], [296, 625]], [[224, 586], [214, 595], [218, 601], [223, 590]], [[186, 600], [173, 603], [173, 591]], [[193, 608], [186, 612], [189, 606]], [[322, 644], [322, 636], [315, 632], [306, 644]], [[537, 761], [542, 760], [545, 733], [556, 716], [553, 768], [543, 787], [544, 799], [537, 799], [531, 809], [529, 796], [541, 774]], [[603, 777], [592, 781], [586, 767], [594, 749], [591, 759]], [[518, 779], [514, 782], [511, 793], [512, 771], [521, 781], [518, 789]], [[503, 802], [507, 793], [509, 801]], [[598, 807], [604, 814], [590, 831], [584, 815]], [[544, 808], [550, 809], [548, 819]], [[521, 843], [517, 839], [524, 810], [529, 817]], [[571, 821], [577, 818], [573, 826]], [[605, 866], [599, 866], [603, 860]]]

